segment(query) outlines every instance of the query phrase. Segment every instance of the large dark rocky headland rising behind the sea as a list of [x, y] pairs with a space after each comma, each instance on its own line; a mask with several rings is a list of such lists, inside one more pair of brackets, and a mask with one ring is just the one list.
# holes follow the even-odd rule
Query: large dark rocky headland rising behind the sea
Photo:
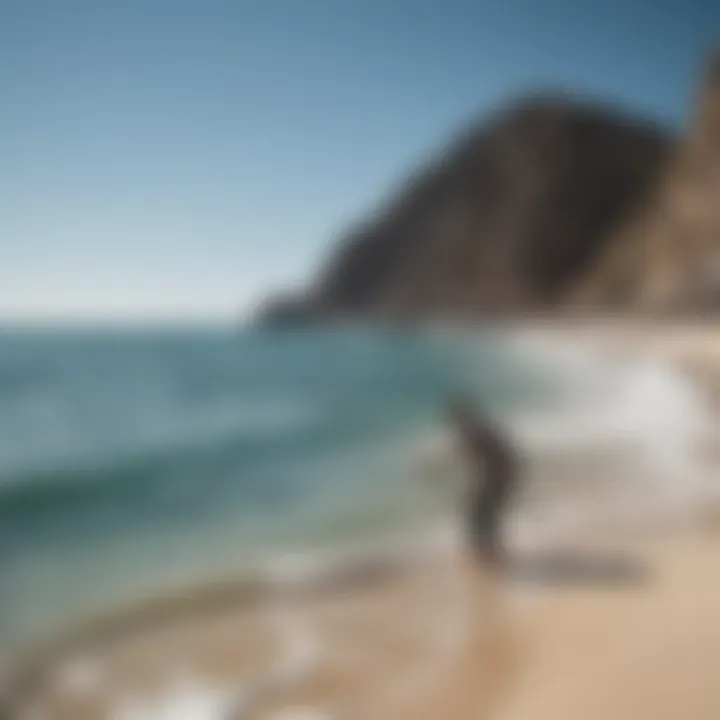
[[656, 125], [558, 95], [517, 103], [422, 169], [353, 229], [289, 318], [476, 317], [549, 309], [653, 192]]

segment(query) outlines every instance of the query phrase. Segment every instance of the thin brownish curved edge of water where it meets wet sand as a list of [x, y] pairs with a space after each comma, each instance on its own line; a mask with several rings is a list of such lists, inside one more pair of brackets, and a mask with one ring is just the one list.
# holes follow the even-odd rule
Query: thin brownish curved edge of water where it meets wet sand
[[[436, 530], [443, 529], [439, 523]], [[42, 683], [43, 677], [68, 657], [93, 652], [98, 645], [112, 644], [123, 635], [162, 631], [166, 626], [193, 622], [215, 612], [253, 611], [267, 602], [331, 596], [411, 572], [427, 558], [445, 552], [443, 535], [447, 533], [431, 533], [423, 537], [424, 542], [407, 536], [382, 548], [361, 543], [342, 550], [281, 554], [240, 573], [167, 588], [135, 602], [106, 607], [31, 642], [14, 658], [9, 656], [3, 668], [9, 672], [0, 677], [5, 681], [0, 682], [0, 712], [14, 705], [14, 698], [26, 695], [26, 688]]]

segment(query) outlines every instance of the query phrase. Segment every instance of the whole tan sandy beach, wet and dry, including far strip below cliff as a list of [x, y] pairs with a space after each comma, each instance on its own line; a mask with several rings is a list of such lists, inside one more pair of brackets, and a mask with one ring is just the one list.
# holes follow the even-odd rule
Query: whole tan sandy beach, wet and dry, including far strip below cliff
[[[619, 347], [639, 339], [604, 334]], [[642, 339], [716, 382], [714, 333], [645, 330]], [[260, 599], [220, 593], [69, 643], [14, 687], [10, 717], [716, 720], [714, 515], [556, 543], [516, 556], [505, 574], [455, 544]], [[549, 572], [556, 556], [571, 558], [571, 571]], [[598, 558], [613, 559], [609, 574], [596, 572]], [[618, 560], [637, 572], [614, 575]]]

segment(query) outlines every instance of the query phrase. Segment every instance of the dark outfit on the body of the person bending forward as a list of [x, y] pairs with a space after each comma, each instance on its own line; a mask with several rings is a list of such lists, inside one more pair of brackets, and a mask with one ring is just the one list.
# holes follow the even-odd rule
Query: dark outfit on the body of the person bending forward
[[473, 472], [466, 515], [470, 542], [484, 559], [498, 560], [501, 521], [516, 481], [515, 453], [498, 432], [479, 422], [461, 434]]

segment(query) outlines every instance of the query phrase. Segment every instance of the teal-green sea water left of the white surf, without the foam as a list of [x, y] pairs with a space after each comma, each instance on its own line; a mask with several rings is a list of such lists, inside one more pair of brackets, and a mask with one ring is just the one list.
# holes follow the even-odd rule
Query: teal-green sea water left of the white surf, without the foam
[[0, 333], [0, 640], [421, 526], [448, 396], [555, 390], [492, 332]]

